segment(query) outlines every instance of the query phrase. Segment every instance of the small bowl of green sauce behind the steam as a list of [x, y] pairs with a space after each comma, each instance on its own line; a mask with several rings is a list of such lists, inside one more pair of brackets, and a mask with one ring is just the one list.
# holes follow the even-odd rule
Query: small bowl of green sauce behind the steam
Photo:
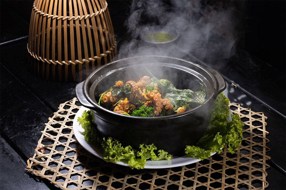
[[148, 26], [144, 28], [141, 39], [147, 44], [169, 44], [180, 36], [178, 30], [170, 26]]

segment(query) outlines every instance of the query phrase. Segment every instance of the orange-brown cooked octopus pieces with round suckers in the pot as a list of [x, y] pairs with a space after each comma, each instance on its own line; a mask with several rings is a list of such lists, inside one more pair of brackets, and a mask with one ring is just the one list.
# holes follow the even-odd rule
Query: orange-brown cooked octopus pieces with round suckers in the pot
[[[161, 81], [164, 81], [164, 79], [161, 79]], [[147, 85], [148, 88], [146, 87]], [[154, 85], [154, 87], [150, 85]], [[122, 88], [122, 86], [124, 87]], [[114, 89], [116, 91], [113, 93]], [[118, 93], [118, 90], [121, 90], [124, 96], [122, 96], [121, 92]], [[116, 97], [113, 97], [112, 94], [116, 94]], [[186, 111], [186, 107], [179, 107], [175, 110], [171, 101], [162, 96], [158, 84], [151, 82], [148, 76], [143, 76], [138, 82], [129, 80], [125, 85], [123, 81], [116, 81], [115, 85], [102, 95], [100, 102], [105, 108], [125, 115], [132, 114], [134, 110], [139, 109], [143, 105], [152, 107], [153, 116], [155, 117]]]

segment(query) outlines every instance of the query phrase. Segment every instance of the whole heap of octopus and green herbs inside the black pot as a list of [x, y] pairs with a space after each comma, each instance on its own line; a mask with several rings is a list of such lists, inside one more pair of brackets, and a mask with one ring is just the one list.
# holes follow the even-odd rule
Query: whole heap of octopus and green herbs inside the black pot
[[99, 105], [116, 113], [157, 117], [183, 113], [203, 103], [206, 97], [204, 86], [194, 92], [190, 89], [176, 89], [167, 79], [158, 80], [148, 71], [152, 78], [143, 76], [138, 82], [116, 81], [99, 98]]

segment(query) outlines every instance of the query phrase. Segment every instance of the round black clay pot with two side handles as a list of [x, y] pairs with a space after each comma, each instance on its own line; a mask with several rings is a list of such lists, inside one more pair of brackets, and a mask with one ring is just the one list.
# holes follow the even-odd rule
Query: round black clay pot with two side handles
[[[185, 113], [164, 117], [134, 117], [114, 113], [98, 105], [99, 95], [116, 81], [139, 81], [149, 76], [168, 79], [177, 89], [198, 91], [198, 80], [206, 87], [206, 101]], [[151, 76], [150, 76], [151, 77]], [[140, 144], [154, 144], [157, 150], [170, 154], [195, 144], [206, 132], [211, 108], [219, 93], [226, 88], [218, 71], [166, 56], [140, 56], [117, 60], [94, 71], [76, 86], [78, 101], [91, 110], [98, 133], [118, 139], [122, 145], [138, 149]]]

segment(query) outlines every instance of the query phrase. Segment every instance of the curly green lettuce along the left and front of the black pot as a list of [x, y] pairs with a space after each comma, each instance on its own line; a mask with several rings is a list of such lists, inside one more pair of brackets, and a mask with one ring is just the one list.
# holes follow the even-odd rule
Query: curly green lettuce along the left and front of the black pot
[[128, 162], [132, 169], [143, 169], [148, 159], [150, 160], [170, 160], [172, 155], [164, 150], [158, 150], [154, 144], [140, 145], [140, 151], [134, 150], [131, 146], [122, 146], [122, 144], [112, 137], [102, 137], [96, 132], [96, 127], [92, 122], [90, 111], [84, 111], [82, 117], [79, 117], [79, 124], [84, 129], [84, 139], [86, 142], [95, 145], [103, 154], [106, 162]]

